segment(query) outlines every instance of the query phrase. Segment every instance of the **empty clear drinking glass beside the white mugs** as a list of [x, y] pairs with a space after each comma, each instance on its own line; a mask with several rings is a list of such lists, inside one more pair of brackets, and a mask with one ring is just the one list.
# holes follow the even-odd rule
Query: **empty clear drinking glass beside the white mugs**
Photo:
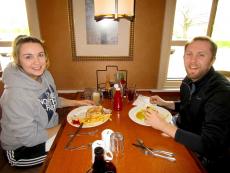
[[124, 156], [124, 136], [120, 132], [113, 132], [110, 135], [110, 151], [115, 161]]

